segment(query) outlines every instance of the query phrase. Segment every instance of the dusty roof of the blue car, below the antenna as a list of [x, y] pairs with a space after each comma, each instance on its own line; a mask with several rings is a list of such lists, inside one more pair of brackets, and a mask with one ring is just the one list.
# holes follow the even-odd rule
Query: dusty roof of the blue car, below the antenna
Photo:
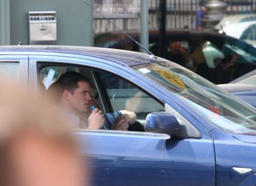
[[[149, 54], [110, 48], [75, 46], [0, 46], [0, 55], [90, 56], [106, 59], [122, 66], [157, 62]], [[157, 58], [161, 59], [161, 58]]]

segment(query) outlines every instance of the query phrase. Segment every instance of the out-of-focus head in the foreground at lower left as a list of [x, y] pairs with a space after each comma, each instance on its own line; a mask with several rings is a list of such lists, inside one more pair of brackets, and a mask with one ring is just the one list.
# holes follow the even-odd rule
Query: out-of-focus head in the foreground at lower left
[[57, 112], [9, 88], [0, 92], [0, 185], [87, 185], [76, 140]]

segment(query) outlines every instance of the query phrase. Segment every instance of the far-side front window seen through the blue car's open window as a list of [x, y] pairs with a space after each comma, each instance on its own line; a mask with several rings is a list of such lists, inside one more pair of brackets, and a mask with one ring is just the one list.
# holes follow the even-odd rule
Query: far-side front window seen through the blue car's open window
[[114, 111], [129, 110], [135, 112], [137, 119], [143, 124], [147, 114], [165, 110], [164, 105], [124, 79], [103, 72], [100, 72], [99, 76]]

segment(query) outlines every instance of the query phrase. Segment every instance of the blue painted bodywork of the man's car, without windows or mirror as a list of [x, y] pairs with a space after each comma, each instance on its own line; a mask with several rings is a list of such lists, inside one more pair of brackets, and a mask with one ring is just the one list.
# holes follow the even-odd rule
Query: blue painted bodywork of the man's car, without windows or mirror
[[[38, 83], [37, 62], [114, 73], [169, 104], [201, 134], [200, 139], [193, 139], [145, 132], [75, 131], [81, 153], [90, 162], [93, 185], [255, 185], [256, 137], [213, 127], [173, 93], [129, 67], [157, 62], [149, 55], [85, 47], [0, 47], [0, 61], [12, 59], [23, 61], [29, 86]], [[252, 170], [241, 174], [233, 167]]]

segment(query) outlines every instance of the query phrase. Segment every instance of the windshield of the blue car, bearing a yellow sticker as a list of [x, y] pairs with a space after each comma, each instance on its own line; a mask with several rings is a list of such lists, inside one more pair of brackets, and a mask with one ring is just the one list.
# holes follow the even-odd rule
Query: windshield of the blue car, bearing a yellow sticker
[[173, 62], [132, 67], [160, 84], [214, 127], [232, 134], [256, 133], [256, 110], [234, 95]]

